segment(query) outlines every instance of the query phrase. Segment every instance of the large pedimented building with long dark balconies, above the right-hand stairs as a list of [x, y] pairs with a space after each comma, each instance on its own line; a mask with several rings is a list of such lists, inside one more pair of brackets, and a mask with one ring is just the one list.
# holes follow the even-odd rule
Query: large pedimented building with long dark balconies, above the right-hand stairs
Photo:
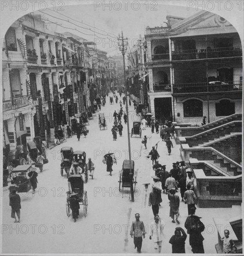
[[[242, 49], [236, 29], [217, 14], [167, 16], [146, 28], [150, 108], [156, 119], [200, 125], [242, 111]], [[175, 21], [178, 21], [174, 23]]]

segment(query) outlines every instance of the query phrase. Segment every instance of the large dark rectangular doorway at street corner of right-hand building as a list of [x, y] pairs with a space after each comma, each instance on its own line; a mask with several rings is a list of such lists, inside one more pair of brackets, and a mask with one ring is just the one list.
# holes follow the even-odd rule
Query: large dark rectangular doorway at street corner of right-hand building
[[154, 99], [155, 119], [160, 123], [173, 121], [171, 97]]

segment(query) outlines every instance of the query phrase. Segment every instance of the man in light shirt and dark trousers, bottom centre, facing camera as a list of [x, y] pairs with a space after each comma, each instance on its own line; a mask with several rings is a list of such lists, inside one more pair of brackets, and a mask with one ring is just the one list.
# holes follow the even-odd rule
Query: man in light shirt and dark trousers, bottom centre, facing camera
[[135, 214], [135, 218], [136, 220], [132, 222], [130, 235], [132, 238], [134, 236], [135, 249], [137, 248], [137, 252], [141, 253], [142, 236], [145, 238], [146, 232], [144, 223], [140, 221], [140, 215], [138, 213]]

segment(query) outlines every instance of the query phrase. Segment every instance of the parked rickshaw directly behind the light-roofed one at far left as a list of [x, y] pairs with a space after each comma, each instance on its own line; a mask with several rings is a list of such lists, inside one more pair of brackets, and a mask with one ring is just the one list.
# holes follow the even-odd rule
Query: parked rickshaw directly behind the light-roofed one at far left
[[29, 154], [24, 145], [18, 145], [16, 149], [10, 150], [7, 155], [8, 172], [11, 176], [13, 168], [18, 165], [31, 164]]

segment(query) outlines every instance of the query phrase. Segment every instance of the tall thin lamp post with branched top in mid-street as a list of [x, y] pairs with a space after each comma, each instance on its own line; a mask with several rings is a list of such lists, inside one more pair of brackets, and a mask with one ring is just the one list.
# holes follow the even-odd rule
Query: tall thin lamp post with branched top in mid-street
[[124, 38], [123, 31], [121, 36], [118, 37], [118, 46], [119, 50], [123, 55], [123, 64], [124, 64], [124, 83], [125, 83], [125, 103], [126, 103], [126, 115], [127, 115], [127, 136], [128, 136], [128, 149], [129, 149], [129, 160], [130, 160], [130, 182], [131, 182], [131, 196], [132, 202], [134, 202], [134, 190], [133, 190], [133, 174], [132, 174], [132, 156], [131, 156], [131, 141], [130, 141], [130, 126], [129, 126], [129, 111], [128, 111], [128, 100], [127, 100], [127, 83], [126, 83], [126, 72], [125, 72], [125, 52], [127, 50], [128, 39]]

